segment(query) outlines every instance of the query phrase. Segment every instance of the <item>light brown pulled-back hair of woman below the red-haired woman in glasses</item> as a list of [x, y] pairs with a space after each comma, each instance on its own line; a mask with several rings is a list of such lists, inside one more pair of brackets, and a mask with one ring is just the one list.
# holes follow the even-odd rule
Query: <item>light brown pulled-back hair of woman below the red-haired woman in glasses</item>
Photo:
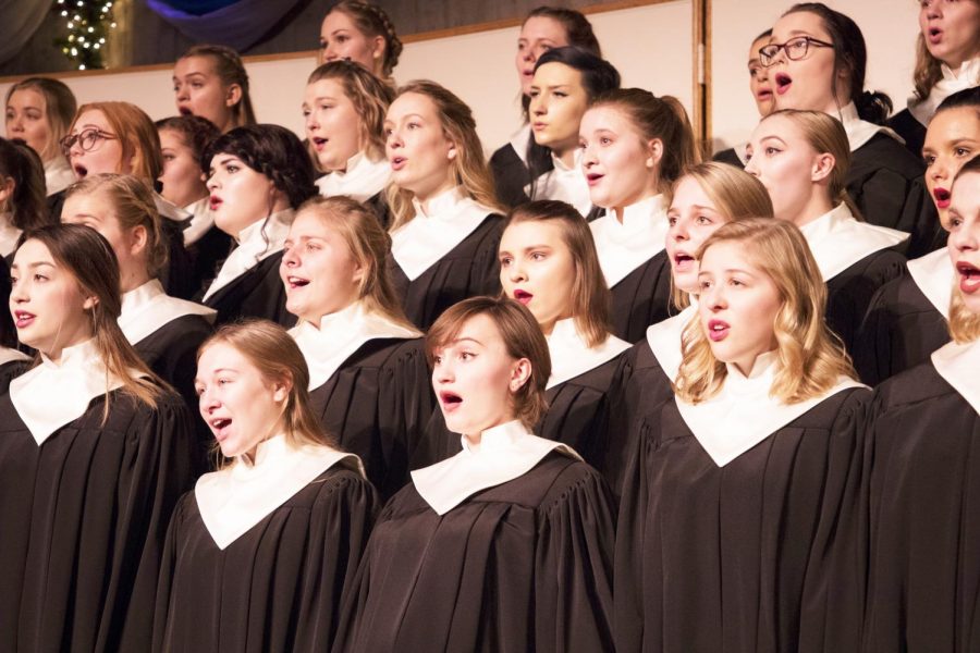
[[112, 215], [123, 230], [146, 230], [146, 270], [157, 278], [167, 267], [169, 244], [160, 227], [160, 213], [146, 184], [128, 174], [94, 174], [75, 182], [65, 192], [65, 200], [75, 195], [101, 195], [112, 205]]

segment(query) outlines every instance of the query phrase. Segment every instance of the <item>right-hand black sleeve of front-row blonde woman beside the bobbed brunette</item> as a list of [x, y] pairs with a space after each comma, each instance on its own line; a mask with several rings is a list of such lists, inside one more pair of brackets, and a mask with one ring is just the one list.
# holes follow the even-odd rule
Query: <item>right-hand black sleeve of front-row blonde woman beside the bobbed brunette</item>
[[330, 651], [342, 602], [367, 546], [378, 501], [373, 486], [345, 470], [328, 477], [309, 520], [309, 558], [296, 621], [296, 652]]

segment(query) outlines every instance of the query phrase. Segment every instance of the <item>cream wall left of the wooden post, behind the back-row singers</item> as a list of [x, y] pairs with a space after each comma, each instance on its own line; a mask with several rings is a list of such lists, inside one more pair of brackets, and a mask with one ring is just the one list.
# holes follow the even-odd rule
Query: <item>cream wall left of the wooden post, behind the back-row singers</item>
[[[623, 75], [625, 86], [674, 95], [688, 109], [694, 75], [691, 2], [674, 0], [591, 14], [603, 53]], [[519, 123], [514, 51], [518, 28], [407, 44], [395, 76], [400, 82], [434, 79], [473, 109], [486, 149], [507, 140]], [[274, 122], [303, 134], [299, 104], [313, 57], [247, 63], [252, 97], [261, 122]], [[154, 120], [172, 115], [171, 71], [93, 73], [65, 78], [79, 103], [125, 100]], [[0, 84], [5, 97], [10, 83]]]

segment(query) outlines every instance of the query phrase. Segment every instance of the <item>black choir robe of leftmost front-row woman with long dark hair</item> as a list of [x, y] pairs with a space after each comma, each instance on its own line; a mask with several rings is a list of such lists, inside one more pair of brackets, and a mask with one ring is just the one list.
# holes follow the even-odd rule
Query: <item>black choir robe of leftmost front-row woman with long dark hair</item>
[[[53, 401], [53, 398], [52, 398]], [[96, 397], [40, 445], [0, 398], [0, 650], [148, 651], [163, 538], [194, 482], [184, 402]]]

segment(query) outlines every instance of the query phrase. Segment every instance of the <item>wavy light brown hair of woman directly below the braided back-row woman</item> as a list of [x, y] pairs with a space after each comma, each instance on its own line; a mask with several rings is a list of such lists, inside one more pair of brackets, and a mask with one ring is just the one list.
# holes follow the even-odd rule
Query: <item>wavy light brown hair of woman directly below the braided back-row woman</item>
[[335, 79], [357, 111], [362, 147], [375, 159], [384, 158], [384, 115], [394, 99], [390, 86], [356, 63], [331, 61], [317, 67], [307, 86], [322, 79]]

